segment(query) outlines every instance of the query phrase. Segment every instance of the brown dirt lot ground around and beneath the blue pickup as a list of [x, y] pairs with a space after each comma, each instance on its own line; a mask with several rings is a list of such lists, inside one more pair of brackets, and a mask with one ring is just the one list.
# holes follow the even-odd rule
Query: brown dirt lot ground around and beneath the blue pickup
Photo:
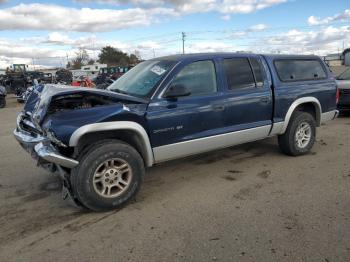
[[1, 261], [350, 261], [350, 117], [307, 156], [267, 139], [173, 161], [121, 211], [86, 213], [15, 142], [20, 109], [0, 110]]

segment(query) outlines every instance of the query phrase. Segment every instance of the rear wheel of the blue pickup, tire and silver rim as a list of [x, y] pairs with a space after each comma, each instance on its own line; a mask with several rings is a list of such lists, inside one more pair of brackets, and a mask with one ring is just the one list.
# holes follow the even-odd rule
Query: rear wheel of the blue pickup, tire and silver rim
[[297, 111], [293, 114], [286, 132], [278, 137], [283, 153], [290, 156], [307, 154], [316, 139], [316, 121], [307, 113]]

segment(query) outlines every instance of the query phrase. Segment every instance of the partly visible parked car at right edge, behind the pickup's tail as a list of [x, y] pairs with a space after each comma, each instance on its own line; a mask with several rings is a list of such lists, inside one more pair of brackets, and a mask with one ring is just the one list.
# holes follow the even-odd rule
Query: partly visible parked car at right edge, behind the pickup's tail
[[350, 68], [337, 77], [339, 89], [338, 108], [340, 111], [350, 111]]

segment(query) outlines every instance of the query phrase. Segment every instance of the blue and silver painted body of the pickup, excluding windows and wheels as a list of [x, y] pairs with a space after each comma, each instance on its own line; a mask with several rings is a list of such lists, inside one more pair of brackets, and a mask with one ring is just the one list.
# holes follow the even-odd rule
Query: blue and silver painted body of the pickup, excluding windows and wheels
[[[235, 57], [256, 58], [261, 63], [264, 69], [262, 87], [228, 89], [222, 62]], [[274, 61], [289, 58], [317, 59], [324, 66], [327, 77], [322, 80], [282, 82], [274, 69]], [[45, 132], [53, 133], [55, 139], [70, 148], [77, 147], [80, 139], [87, 134], [132, 131], [142, 141], [147, 166], [283, 134], [293, 112], [303, 104], [314, 107], [318, 125], [337, 115], [335, 80], [315, 56], [220, 53], [178, 55], [157, 60], [161, 59], [176, 63], [148, 99], [108, 91], [55, 90], [44, 98], [40, 98], [39, 92], [37, 99], [43, 99], [39, 106], [33, 95], [26, 105], [25, 114], [38, 115], [40, 121], [37, 125], [40, 125], [44, 135]], [[172, 100], [164, 98], [165, 91], [182, 68], [203, 60], [210, 60], [215, 65], [216, 93]], [[115, 103], [45, 116], [45, 107], [52, 96], [77, 92], [112, 96]], [[43, 150], [42, 147], [40, 149]]]

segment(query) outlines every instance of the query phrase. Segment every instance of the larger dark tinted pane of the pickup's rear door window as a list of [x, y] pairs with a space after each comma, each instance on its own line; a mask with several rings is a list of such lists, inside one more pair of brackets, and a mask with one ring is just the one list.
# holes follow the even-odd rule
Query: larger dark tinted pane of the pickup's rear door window
[[224, 70], [230, 90], [255, 87], [255, 80], [248, 58], [224, 59]]

